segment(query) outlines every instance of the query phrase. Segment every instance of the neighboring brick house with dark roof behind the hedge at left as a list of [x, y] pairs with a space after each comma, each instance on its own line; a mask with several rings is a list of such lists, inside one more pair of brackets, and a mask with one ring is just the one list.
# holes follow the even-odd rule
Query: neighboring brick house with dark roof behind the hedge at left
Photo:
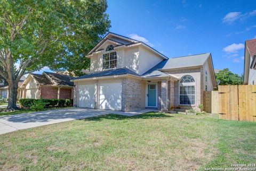
[[74, 79], [68, 75], [43, 72], [29, 74], [20, 87], [20, 98], [73, 99]]

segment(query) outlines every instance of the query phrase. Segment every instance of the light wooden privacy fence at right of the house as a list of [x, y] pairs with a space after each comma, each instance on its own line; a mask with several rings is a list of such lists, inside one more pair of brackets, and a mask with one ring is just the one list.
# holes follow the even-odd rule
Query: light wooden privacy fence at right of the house
[[204, 92], [206, 112], [218, 113], [221, 119], [256, 122], [256, 85], [219, 86], [218, 89]]

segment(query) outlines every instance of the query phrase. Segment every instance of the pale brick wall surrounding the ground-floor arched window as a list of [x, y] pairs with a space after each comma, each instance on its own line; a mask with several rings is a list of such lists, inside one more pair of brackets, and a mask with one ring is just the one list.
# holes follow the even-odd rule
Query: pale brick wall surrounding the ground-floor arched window
[[[201, 93], [203, 92], [201, 89], [201, 68], [198, 69], [180, 69], [180, 70], [172, 70], [167, 71], [165, 73], [170, 73], [175, 76], [178, 76], [179, 79], [182, 76], [190, 75], [193, 76], [195, 79], [195, 107], [198, 107], [199, 104], [203, 103], [203, 98]], [[180, 88], [179, 88], [179, 81], [175, 82], [174, 84], [174, 106], [180, 105]]]

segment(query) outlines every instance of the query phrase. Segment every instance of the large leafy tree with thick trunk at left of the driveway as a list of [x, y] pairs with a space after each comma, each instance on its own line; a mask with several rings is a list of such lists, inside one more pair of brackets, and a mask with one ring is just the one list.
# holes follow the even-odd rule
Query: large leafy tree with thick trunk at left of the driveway
[[105, 0], [0, 0], [0, 6], [0, 75], [9, 84], [6, 110], [17, 109], [22, 75], [44, 66], [85, 69], [85, 54], [110, 27]]

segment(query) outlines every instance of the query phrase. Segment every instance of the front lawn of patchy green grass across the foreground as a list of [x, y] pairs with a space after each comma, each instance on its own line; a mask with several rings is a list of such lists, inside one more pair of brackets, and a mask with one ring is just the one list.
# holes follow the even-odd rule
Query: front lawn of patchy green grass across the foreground
[[106, 115], [0, 135], [0, 170], [204, 170], [256, 161], [256, 123]]

